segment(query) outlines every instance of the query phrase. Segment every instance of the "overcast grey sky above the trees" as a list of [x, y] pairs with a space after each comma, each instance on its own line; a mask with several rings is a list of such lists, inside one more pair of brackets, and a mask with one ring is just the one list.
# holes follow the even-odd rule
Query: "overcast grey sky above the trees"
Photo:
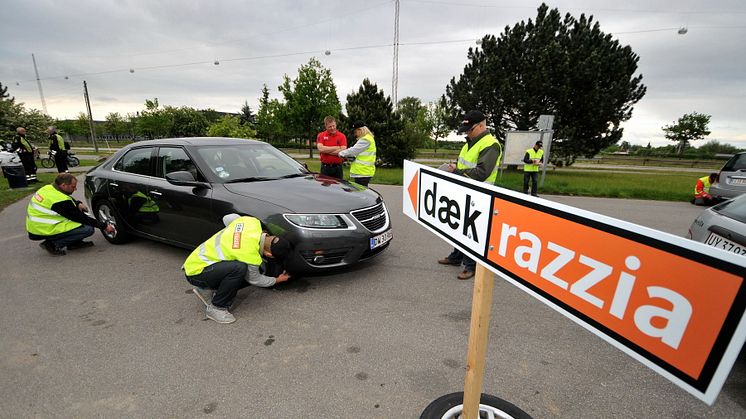
[[[394, 1], [4, 0], [0, 82], [27, 107], [85, 110], [94, 119], [162, 105], [238, 112], [258, 109], [284, 74], [316, 57], [332, 71], [344, 105], [369, 78], [391, 94]], [[484, 34], [533, 19], [540, 2], [401, 0], [399, 99], [436, 100]], [[661, 127], [685, 113], [712, 115], [708, 139], [746, 148], [746, 2], [563, 0], [564, 15], [593, 15], [601, 30], [640, 57], [647, 94], [624, 124], [624, 140], [667, 143]], [[688, 32], [678, 34], [686, 27]], [[325, 52], [329, 51], [329, 55]], [[215, 61], [219, 65], [215, 65]], [[134, 70], [131, 71], [131, 70]]]

